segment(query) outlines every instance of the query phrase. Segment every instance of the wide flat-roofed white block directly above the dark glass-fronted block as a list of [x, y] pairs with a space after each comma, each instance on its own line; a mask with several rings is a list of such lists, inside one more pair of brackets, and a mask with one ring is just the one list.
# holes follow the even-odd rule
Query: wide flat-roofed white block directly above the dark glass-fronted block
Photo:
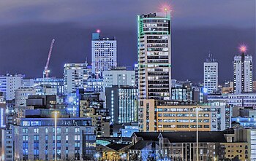
[[109, 71], [103, 71], [104, 87], [113, 85], [135, 86], [135, 71], [127, 71], [124, 68], [113, 68]]

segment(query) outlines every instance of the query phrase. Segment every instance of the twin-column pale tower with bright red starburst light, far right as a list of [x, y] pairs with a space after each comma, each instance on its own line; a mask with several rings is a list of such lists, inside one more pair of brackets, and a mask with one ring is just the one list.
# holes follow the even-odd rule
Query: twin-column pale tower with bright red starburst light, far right
[[252, 92], [252, 55], [246, 55], [246, 47], [234, 57], [234, 93]]

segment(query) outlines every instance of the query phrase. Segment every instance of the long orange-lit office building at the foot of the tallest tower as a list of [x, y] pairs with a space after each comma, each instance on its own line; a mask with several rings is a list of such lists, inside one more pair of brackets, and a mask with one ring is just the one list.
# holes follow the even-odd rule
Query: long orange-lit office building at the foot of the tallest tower
[[[140, 131], [217, 131], [230, 127], [230, 107], [226, 103], [196, 103], [192, 101], [140, 101]], [[141, 110], [141, 109], [140, 109]], [[154, 111], [154, 112], [153, 112]], [[144, 121], [146, 120], [146, 121]]]

